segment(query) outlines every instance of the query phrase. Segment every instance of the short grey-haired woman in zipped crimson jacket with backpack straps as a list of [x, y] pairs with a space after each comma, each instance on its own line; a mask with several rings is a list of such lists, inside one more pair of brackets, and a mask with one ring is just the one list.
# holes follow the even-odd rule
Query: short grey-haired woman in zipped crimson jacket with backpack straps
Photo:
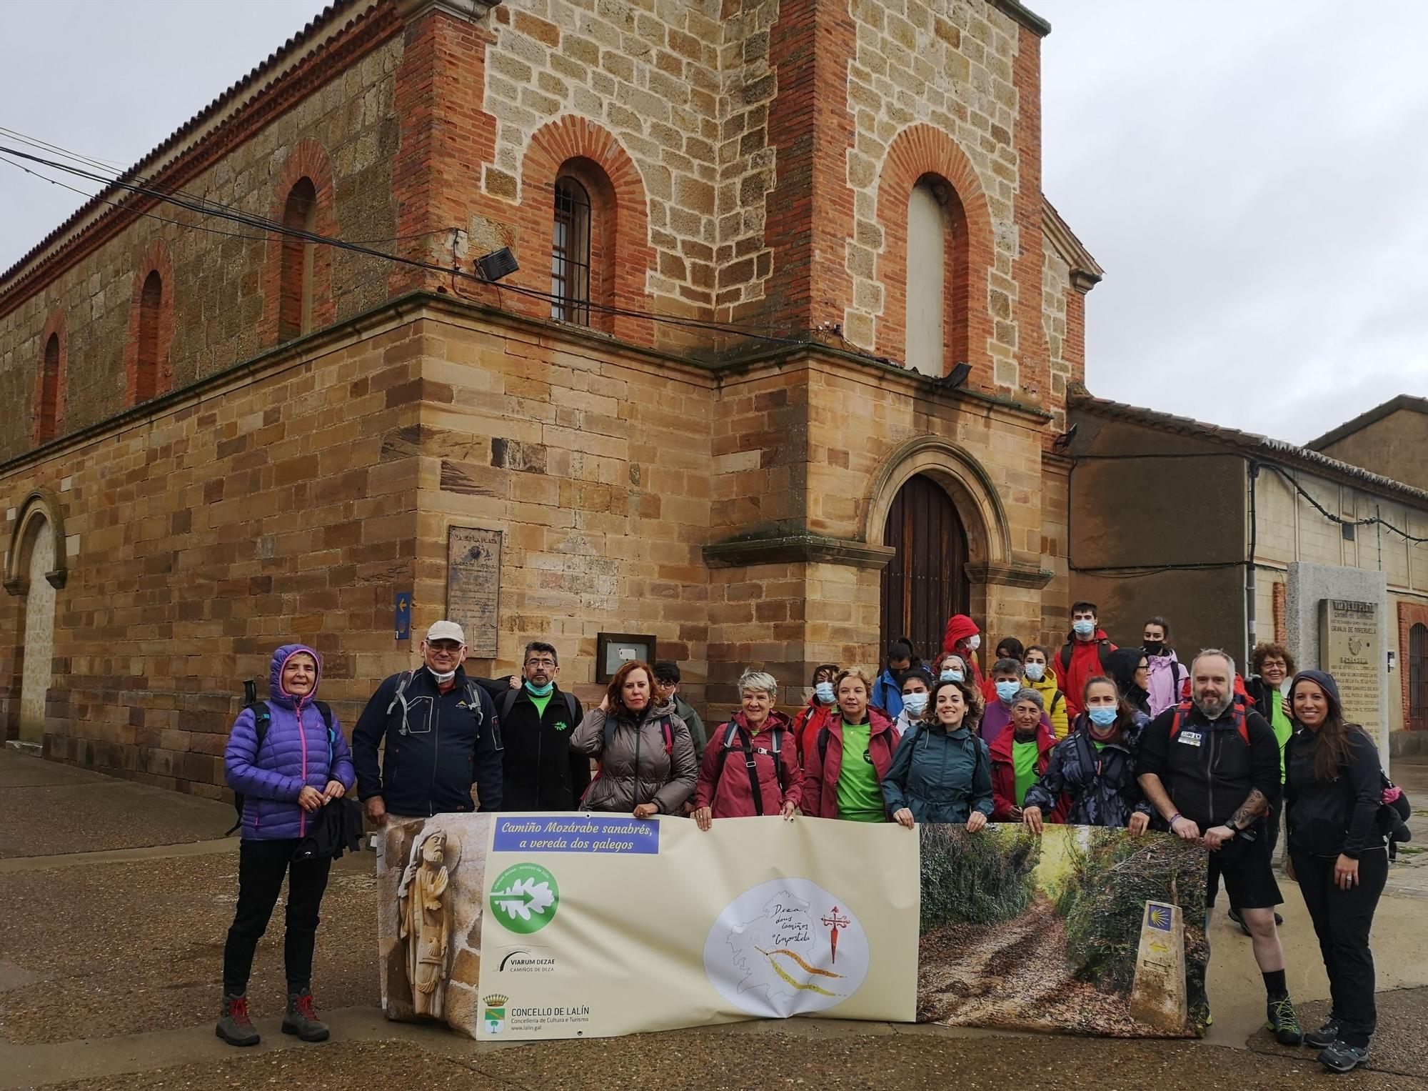
[[740, 710], [714, 730], [704, 747], [694, 788], [694, 821], [708, 830], [714, 818], [781, 814], [793, 820], [803, 798], [803, 770], [793, 725], [773, 711], [778, 683], [764, 671], [738, 680]]

